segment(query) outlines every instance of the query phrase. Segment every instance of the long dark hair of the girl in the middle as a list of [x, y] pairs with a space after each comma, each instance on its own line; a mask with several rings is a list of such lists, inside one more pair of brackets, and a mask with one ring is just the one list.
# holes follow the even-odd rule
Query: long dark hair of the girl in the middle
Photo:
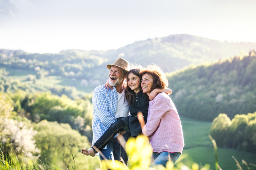
[[[131, 73], [133, 73], [135, 76], [140, 78], [140, 70], [141, 70], [141, 68], [133, 68], [133, 69], [131, 69], [127, 73], [127, 79], [128, 79], [128, 75], [131, 74]], [[142, 88], [140, 86], [140, 91], [141, 90], [142, 90]], [[131, 102], [134, 102], [135, 96], [136, 96], [136, 93], [134, 92], [134, 90], [131, 90], [131, 88], [127, 85], [127, 88], [125, 89], [125, 99], [128, 102], [128, 105], [130, 105]]]

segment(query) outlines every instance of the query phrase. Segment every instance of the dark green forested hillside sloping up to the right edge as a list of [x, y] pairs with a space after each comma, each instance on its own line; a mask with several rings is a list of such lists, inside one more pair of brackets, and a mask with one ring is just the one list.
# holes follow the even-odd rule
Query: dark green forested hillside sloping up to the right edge
[[168, 75], [179, 114], [213, 120], [256, 111], [256, 52]]

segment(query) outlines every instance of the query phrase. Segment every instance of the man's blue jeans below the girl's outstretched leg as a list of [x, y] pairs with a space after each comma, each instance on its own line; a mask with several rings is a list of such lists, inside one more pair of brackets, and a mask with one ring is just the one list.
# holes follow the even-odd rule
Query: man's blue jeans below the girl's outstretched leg
[[[102, 149], [102, 154], [106, 157], [106, 159], [112, 160], [120, 160], [121, 154], [121, 145], [117, 142], [116, 138], [112, 138], [108, 142], [107, 149]], [[104, 158], [99, 155], [100, 160], [104, 160]]]

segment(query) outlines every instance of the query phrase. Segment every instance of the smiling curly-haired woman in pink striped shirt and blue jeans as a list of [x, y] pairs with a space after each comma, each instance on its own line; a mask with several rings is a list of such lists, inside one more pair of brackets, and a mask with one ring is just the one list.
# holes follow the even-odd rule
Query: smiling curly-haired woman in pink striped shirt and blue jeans
[[[148, 95], [155, 88], [168, 87], [166, 75], [155, 65], [141, 71], [140, 77], [143, 93]], [[166, 167], [169, 159], [173, 163], [179, 159], [184, 147], [183, 132], [177, 109], [166, 93], [159, 93], [149, 101], [148, 120], [142, 132], [153, 148], [151, 166], [162, 164]]]

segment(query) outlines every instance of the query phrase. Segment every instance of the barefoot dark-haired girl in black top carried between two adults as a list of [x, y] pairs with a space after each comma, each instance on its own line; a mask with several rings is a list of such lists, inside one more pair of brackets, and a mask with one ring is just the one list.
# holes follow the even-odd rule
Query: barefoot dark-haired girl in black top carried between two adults
[[[156, 96], [157, 93], [161, 92], [165, 92], [168, 95], [172, 94], [172, 90], [168, 88], [154, 89], [154, 91], [152, 91], [152, 96]], [[129, 137], [137, 137], [141, 133], [141, 126], [137, 118], [137, 113], [139, 111], [142, 112], [144, 120], [147, 122], [149, 98], [142, 92], [140, 68], [131, 69], [127, 73], [125, 99], [130, 106], [130, 115], [114, 122], [90, 149], [82, 149], [81, 153], [87, 156], [95, 156], [98, 151], [101, 151], [108, 144], [108, 141], [112, 139], [117, 132], [125, 130], [123, 129], [124, 127], [129, 127], [129, 130], [123, 135], [126, 141]], [[127, 163], [127, 161], [125, 162]]]

